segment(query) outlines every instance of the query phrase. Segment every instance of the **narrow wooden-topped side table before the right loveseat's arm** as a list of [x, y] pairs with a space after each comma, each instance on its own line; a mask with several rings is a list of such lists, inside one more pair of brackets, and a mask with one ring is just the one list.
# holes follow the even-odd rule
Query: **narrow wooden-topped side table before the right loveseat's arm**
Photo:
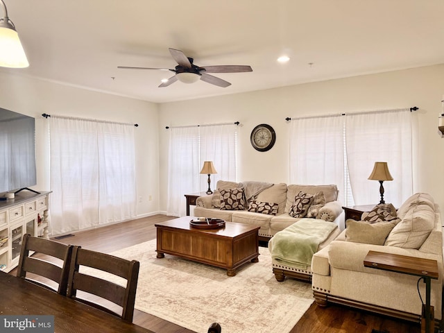
[[434, 309], [430, 306], [431, 280], [438, 279], [438, 262], [432, 259], [409, 257], [368, 251], [364, 259], [364, 266], [382, 269], [401, 274], [419, 276], [425, 283], [425, 305], [422, 305], [422, 318], [425, 318], [425, 332], [434, 332]]

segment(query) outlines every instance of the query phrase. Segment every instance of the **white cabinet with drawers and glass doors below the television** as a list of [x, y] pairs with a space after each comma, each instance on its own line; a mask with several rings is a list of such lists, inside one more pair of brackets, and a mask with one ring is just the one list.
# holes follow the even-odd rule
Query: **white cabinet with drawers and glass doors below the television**
[[0, 201], [0, 270], [9, 272], [19, 264], [24, 234], [48, 238], [50, 191], [22, 191], [14, 199]]

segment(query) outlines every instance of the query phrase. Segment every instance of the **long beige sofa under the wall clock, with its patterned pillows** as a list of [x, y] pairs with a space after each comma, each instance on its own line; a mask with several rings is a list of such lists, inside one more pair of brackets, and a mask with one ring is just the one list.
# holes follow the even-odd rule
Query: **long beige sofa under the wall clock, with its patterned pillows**
[[[306, 196], [299, 200], [301, 194]], [[295, 205], [298, 195], [298, 205]], [[336, 185], [287, 185], [219, 180], [213, 194], [196, 199], [194, 216], [260, 226], [259, 239], [268, 241], [276, 232], [302, 217], [323, 219], [337, 224], [336, 219], [342, 212], [337, 197]], [[298, 209], [302, 209], [303, 213], [298, 214]]]

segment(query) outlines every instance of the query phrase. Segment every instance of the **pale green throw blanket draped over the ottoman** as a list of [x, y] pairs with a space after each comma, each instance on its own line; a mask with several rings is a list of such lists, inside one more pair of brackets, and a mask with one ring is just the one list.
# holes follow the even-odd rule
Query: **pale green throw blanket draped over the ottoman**
[[319, 244], [327, 239], [337, 225], [321, 219], [300, 219], [276, 232], [271, 239], [271, 257], [291, 266], [307, 269]]

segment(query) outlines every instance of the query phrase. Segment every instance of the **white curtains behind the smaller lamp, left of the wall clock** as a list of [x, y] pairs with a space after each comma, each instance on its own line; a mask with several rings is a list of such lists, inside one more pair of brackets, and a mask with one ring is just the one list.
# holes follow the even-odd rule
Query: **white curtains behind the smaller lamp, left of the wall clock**
[[169, 129], [167, 214], [185, 216], [185, 194], [207, 191], [203, 162], [212, 161], [217, 173], [210, 176], [214, 190], [219, 179], [236, 180], [237, 126], [216, 124]]

